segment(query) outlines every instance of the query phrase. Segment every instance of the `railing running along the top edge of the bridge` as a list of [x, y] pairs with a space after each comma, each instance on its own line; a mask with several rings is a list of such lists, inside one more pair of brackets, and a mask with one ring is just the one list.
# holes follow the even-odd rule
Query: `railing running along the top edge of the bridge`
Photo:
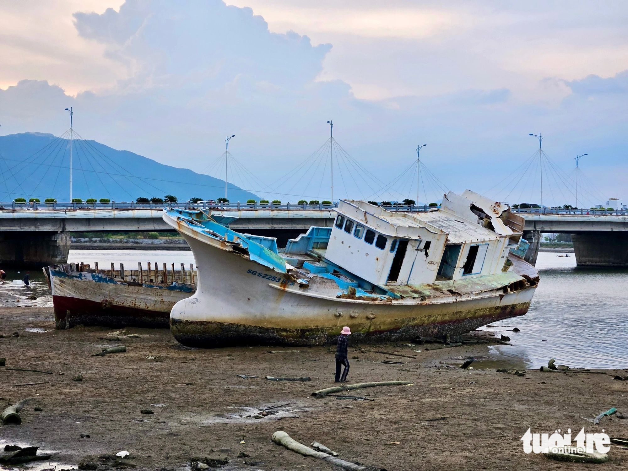
[[[163, 208], [204, 209], [204, 210], [330, 210], [338, 207], [338, 203], [217, 203], [217, 202], [185, 202], [185, 203], [135, 203], [135, 202], [111, 202], [111, 203], [16, 203], [0, 202], [1, 210], [111, 210], [111, 209], [156, 209]], [[393, 204], [384, 206], [389, 211], [396, 212], [427, 212], [440, 206], [428, 205], [401, 205]], [[617, 209], [575, 209], [575, 208], [511, 208], [516, 214], [563, 214], [563, 215], [628, 215], [628, 210]]]

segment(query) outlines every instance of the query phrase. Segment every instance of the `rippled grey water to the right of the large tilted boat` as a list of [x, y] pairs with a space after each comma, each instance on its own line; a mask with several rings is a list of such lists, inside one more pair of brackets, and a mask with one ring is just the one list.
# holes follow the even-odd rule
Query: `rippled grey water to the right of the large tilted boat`
[[528, 314], [493, 323], [514, 347], [492, 347], [492, 357], [538, 368], [550, 358], [572, 367], [628, 367], [628, 269], [576, 268], [569, 258], [540, 253], [541, 281]]

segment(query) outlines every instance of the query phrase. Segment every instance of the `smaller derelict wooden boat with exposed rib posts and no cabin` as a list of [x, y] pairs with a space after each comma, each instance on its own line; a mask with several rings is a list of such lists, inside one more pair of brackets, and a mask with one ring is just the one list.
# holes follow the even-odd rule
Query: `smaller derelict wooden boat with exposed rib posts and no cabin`
[[137, 270], [90, 268], [85, 263], [66, 263], [43, 269], [52, 291], [55, 327], [78, 324], [108, 327], [168, 328], [170, 310], [177, 301], [196, 291], [193, 266], [175, 270], [155, 263]]

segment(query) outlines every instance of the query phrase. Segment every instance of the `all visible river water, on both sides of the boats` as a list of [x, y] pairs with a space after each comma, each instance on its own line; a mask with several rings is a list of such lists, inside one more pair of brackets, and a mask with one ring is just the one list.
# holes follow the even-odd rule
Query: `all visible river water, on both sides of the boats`
[[[484, 330], [511, 338], [509, 345], [490, 347], [477, 367], [538, 368], [555, 358], [557, 364], [588, 368], [628, 367], [628, 269], [579, 269], [573, 254], [558, 257], [540, 253], [536, 268], [541, 281], [528, 314], [491, 324]], [[194, 263], [190, 251], [71, 250], [70, 262], [109, 267], [111, 262], [136, 269], [138, 262]], [[10, 284], [21, 280], [24, 271], [7, 271], [8, 283], [0, 285], [4, 306], [51, 306], [50, 290], [43, 274], [31, 270], [30, 288]], [[36, 300], [28, 300], [36, 296]], [[20, 302], [17, 303], [17, 300]], [[512, 332], [517, 327], [521, 332]]]

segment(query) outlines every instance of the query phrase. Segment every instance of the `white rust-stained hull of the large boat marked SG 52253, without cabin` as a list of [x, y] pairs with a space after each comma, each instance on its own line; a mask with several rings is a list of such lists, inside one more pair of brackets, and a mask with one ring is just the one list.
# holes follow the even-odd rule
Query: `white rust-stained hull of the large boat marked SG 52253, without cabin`
[[176, 340], [193, 347], [325, 345], [335, 342], [345, 325], [354, 342], [460, 335], [524, 315], [538, 283], [536, 270], [513, 256], [514, 270], [456, 281], [454, 289], [452, 281], [444, 281], [423, 286], [423, 294], [364, 298], [330, 279], [311, 278], [304, 286], [260, 262], [251, 246], [241, 250], [239, 236], [231, 242], [225, 232], [219, 239], [217, 226], [204, 234], [176, 215], [164, 219], [185, 237], [197, 261], [198, 289], [170, 315]]

